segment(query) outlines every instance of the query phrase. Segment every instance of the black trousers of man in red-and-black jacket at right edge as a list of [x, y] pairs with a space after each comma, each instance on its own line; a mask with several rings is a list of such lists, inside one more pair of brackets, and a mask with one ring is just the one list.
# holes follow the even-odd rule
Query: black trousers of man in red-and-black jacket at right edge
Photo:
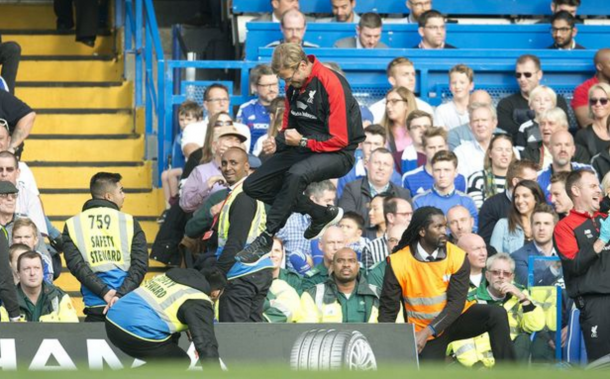
[[610, 354], [610, 295], [580, 296], [575, 303], [589, 362]]

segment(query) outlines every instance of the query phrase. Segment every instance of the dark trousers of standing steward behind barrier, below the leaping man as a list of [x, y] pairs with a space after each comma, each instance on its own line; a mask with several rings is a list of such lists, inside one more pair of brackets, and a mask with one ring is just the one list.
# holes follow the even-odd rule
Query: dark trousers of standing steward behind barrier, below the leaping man
[[231, 280], [219, 300], [219, 321], [263, 322], [263, 306], [272, 281], [269, 269]]

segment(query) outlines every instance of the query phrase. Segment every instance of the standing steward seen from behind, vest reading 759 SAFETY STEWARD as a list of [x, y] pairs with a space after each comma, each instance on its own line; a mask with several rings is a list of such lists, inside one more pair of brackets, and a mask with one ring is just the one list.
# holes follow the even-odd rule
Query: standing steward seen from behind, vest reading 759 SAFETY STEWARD
[[125, 201], [121, 179], [108, 172], [93, 175], [92, 199], [64, 227], [64, 255], [81, 283], [85, 322], [104, 321], [106, 306], [138, 288], [148, 270], [144, 231], [120, 211]]

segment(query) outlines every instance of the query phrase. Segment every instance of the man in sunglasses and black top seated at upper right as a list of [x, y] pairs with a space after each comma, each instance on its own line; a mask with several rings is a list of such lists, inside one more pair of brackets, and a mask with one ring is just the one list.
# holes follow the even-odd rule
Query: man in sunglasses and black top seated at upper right
[[[542, 75], [540, 59], [537, 56], [524, 54], [517, 58], [515, 78], [520, 91], [503, 98], [497, 106], [498, 127], [508, 133], [513, 142], [519, 126], [528, 119], [530, 92], [540, 85]], [[568, 114], [568, 105], [561, 95], [557, 96], [557, 106]]]

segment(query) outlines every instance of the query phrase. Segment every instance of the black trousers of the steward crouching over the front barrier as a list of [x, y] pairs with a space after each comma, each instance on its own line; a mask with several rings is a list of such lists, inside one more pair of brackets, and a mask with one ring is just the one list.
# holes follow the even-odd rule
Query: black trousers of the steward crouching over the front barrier
[[191, 359], [186, 351], [178, 346], [180, 333], [172, 335], [166, 341], [150, 342], [136, 338], [110, 321], [106, 321], [106, 335], [110, 342], [123, 353], [146, 363], [175, 361], [184, 363], [186, 368], [191, 364]]

